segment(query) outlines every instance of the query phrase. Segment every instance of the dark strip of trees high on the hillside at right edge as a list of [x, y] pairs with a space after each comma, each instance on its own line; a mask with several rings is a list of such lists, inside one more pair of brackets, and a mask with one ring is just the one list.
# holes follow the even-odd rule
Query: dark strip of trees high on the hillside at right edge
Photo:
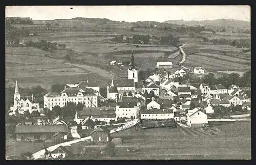
[[248, 39], [225, 39], [225, 38], [220, 38], [220, 39], [213, 39], [212, 41], [214, 42], [214, 44], [233, 45], [233, 46], [237, 46], [238, 48], [250, 47], [251, 46], [251, 42]]

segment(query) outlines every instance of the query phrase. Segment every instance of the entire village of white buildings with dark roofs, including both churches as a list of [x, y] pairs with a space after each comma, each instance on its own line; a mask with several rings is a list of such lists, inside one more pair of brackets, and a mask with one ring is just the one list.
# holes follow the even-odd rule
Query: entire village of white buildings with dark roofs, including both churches
[[[136, 55], [135, 55], [136, 56]], [[115, 61], [110, 65], [120, 65]], [[16, 141], [54, 141], [57, 144], [72, 140], [89, 138], [92, 143], [112, 142], [111, 133], [134, 127], [138, 129], [169, 127], [199, 128], [207, 127], [209, 122], [229, 121], [234, 118], [250, 117], [250, 96], [247, 88], [230, 85], [200, 84], [195, 87], [175, 79], [187, 74], [202, 76], [201, 67], [190, 70], [185, 67], [174, 68], [172, 62], [158, 62], [156, 72], [144, 80], [138, 79], [138, 70], [132, 52], [130, 68], [126, 78], [112, 78], [106, 87], [106, 98], [100, 93], [99, 86], [86, 80], [79, 84], [67, 84], [62, 91], [49, 92], [44, 95], [44, 107], [39, 107], [32, 96], [22, 96], [16, 80], [14, 102], [9, 116], [38, 114], [38, 119], [19, 123], [15, 126]], [[75, 103], [81, 110], [76, 111], [71, 120], [58, 116], [55, 119], [42, 120], [46, 114], [42, 109], [58, 109]], [[231, 109], [228, 119], [217, 115], [215, 109]], [[235, 107], [240, 107], [235, 108]], [[240, 113], [239, 113], [240, 112]], [[241, 113], [243, 112], [243, 113]], [[237, 115], [239, 114], [239, 115]], [[36, 117], [34, 117], [36, 118]], [[225, 117], [227, 118], [227, 117]], [[118, 138], [117, 138], [118, 139]], [[88, 140], [88, 139], [87, 139]], [[45, 148], [45, 159], [62, 159], [67, 149], [60, 145], [52, 151]], [[32, 158], [32, 154], [28, 155]]]

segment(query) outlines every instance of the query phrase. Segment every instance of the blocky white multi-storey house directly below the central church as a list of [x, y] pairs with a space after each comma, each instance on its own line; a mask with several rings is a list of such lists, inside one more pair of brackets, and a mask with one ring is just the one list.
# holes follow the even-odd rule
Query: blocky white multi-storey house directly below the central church
[[[127, 97], [126, 97], [127, 98]], [[125, 98], [125, 99], [126, 99]], [[127, 100], [121, 100], [116, 105], [117, 118], [134, 118], [137, 119], [140, 111], [141, 103], [136, 98], [130, 98]]]

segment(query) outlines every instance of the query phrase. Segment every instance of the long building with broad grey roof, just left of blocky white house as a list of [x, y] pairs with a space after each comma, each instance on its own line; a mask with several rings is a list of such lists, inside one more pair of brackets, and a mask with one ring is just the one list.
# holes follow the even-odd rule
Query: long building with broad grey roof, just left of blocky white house
[[116, 107], [83, 107], [82, 111], [76, 113], [77, 115], [75, 116], [74, 121], [77, 124], [80, 124], [85, 119], [91, 119], [94, 122], [101, 121], [109, 124], [111, 120], [117, 121], [115, 110]]

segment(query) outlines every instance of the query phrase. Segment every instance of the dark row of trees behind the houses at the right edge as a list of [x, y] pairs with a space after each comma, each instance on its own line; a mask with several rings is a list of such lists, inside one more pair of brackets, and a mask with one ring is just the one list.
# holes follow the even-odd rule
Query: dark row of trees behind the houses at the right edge
[[174, 81], [178, 81], [182, 84], [186, 84], [186, 82], [190, 82], [191, 84], [196, 84], [198, 87], [201, 83], [212, 85], [223, 85], [226, 89], [230, 85], [237, 85], [239, 87], [251, 87], [251, 72], [247, 71], [240, 76], [237, 73], [224, 74], [220, 78], [216, 78], [214, 73], [209, 73], [202, 78], [197, 77], [193, 74], [186, 74], [183, 77], [175, 77]]

